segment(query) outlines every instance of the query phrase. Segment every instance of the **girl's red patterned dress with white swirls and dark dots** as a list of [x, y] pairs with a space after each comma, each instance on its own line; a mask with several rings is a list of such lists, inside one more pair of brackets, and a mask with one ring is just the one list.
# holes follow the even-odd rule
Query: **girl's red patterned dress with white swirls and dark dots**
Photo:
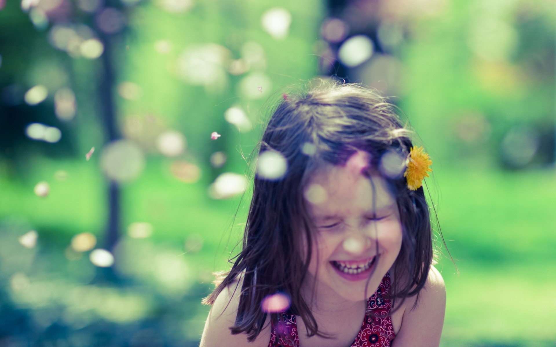
[[[390, 311], [390, 274], [380, 282], [379, 288], [368, 300], [367, 314], [359, 334], [351, 347], [387, 347], [394, 340], [394, 327]], [[272, 325], [269, 347], [299, 347], [295, 315], [282, 313], [277, 325]]]

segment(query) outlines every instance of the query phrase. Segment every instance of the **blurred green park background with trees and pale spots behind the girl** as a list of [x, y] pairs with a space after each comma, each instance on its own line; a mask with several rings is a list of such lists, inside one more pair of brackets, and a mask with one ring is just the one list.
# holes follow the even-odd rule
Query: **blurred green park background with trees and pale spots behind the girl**
[[198, 345], [267, 105], [317, 76], [393, 96], [431, 154], [441, 344], [556, 345], [554, 23], [549, 0], [0, 0], [0, 345]]

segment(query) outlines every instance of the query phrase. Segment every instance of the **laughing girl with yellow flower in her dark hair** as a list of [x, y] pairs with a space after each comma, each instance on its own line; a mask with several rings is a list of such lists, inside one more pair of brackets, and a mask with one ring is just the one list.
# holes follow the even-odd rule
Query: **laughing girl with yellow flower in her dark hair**
[[[439, 345], [446, 293], [421, 187], [431, 162], [409, 133], [356, 84], [283, 95], [242, 251], [205, 299], [201, 347]], [[280, 177], [260, 167], [276, 158]]]

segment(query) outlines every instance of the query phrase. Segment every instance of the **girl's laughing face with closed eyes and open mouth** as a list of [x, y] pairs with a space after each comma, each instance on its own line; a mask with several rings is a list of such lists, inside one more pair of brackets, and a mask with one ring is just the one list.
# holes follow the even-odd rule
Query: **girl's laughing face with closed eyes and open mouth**
[[401, 248], [398, 206], [386, 181], [365, 177], [349, 162], [327, 165], [311, 177], [305, 198], [317, 227], [309, 273], [316, 276], [319, 287], [324, 285], [344, 299], [366, 300]]

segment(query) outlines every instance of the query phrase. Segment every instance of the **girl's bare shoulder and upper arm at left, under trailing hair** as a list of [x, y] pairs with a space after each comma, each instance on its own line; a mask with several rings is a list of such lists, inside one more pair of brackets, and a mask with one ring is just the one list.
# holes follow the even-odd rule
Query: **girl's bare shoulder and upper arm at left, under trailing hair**
[[230, 327], [234, 325], [239, 306], [241, 292], [241, 279], [227, 286], [216, 297], [215, 303], [209, 312], [205, 329], [201, 337], [200, 347], [266, 347], [270, 341], [269, 319], [265, 328], [253, 342], [247, 341], [247, 334], [232, 335]]

